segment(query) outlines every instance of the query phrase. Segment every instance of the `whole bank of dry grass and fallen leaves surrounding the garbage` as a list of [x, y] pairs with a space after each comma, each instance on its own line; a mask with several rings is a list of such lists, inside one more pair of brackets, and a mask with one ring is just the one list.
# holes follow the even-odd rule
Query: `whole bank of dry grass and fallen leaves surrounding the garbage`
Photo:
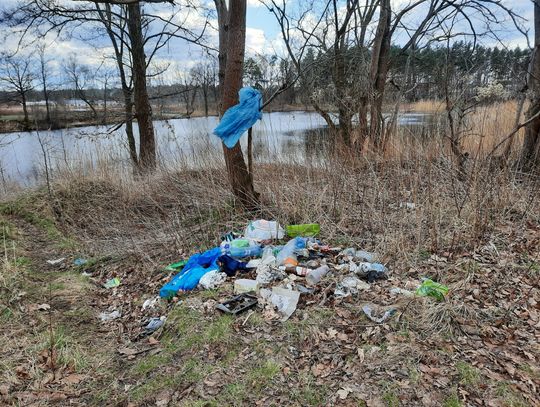
[[[539, 180], [480, 160], [462, 177], [451, 159], [422, 154], [256, 165], [258, 213], [234, 206], [219, 167], [145, 179], [57, 173], [50, 194], [9, 198], [0, 206], [3, 402], [537, 404]], [[218, 314], [232, 281], [142, 310], [169, 279], [164, 265], [254, 218], [318, 222], [325, 242], [381, 253], [390, 278], [340, 300], [331, 296], [339, 276], [329, 277], [286, 323], [261, 310]], [[77, 257], [89, 261], [75, 266]], [[449, 285], [444, 302], [389, 293], [423, 276]], [[103, 288], [112, 277], [121, 285]], [[375, 324], [366, 302], [397, 316]], [[122, 317], [101, 323], [112, 309]], [[141, 336], [160, 315], [165, 327]]]

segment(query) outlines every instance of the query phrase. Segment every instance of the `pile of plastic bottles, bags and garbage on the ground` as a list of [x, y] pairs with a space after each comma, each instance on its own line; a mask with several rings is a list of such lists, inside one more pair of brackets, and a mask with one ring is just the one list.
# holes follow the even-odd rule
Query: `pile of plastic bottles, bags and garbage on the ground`
[[[285, 321], [296, 310], [300, 296], [313, 293], [325, 279], [336, 281], [331, 287], [334, 298], [345, 298], [388, 277], [377, 253], [325, 245], [317, 239], [319, 233], [318, 224], [284, 229], [275, 221], [250, 222], [242, 235], [227, 233], [218, 247], [168, 266], [177, 274], [161, 288], [160, 296], [172, 298], [197, 287], [214, 289], [233, 278], [235, 295], [218, 304], [218, 310], [238, 314], [262, 304], [277, 310]], [[286, 241], [285, 236], [290, 239]], [[416, 294], [440, 299], [446, 292], [426, 280]], [[364, 312], [375, 321], [394, 313], [389, 310], [381, 318], [372, 318], [369, 307]]]

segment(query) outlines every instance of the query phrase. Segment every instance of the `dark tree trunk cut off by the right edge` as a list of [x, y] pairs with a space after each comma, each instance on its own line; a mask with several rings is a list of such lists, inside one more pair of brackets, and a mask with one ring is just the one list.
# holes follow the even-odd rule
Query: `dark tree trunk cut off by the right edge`
[[[527, 110], [527, 120], [540, 111], [540, 0], [534, 0], [534, 50], [529, 89], [531, 104]], [[530, 171], [540, 167], [540, 117], [525, 128], [525, 139], [521, 152], [521, 169]]]

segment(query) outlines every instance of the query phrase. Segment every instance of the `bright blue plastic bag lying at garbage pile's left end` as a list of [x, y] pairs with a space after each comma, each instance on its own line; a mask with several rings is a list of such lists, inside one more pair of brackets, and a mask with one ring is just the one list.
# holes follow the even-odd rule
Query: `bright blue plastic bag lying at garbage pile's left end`
[[193, 290], [202, 276], [212, 270], [219, 270], [217, 258], [221, 256], [221, 248], [215, 247], [204, 253], [194, 254], [189, 258], [180, 273], [159, 290], [162, 298], [173, 297], [179, 290]]

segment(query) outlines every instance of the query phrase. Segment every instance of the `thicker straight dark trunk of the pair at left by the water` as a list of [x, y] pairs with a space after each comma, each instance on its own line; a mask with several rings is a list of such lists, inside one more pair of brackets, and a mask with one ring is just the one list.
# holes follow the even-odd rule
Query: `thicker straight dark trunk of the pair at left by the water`
[[139, 3], [128, 5], [128, 30], [133, 59], [134, 105], [139, 124], [139, 165], [143, 171], [152, 171], [156, 168], [156, 140], [152, 123], [152, 107], [146, 88], [146, 55], [144, 54]]

